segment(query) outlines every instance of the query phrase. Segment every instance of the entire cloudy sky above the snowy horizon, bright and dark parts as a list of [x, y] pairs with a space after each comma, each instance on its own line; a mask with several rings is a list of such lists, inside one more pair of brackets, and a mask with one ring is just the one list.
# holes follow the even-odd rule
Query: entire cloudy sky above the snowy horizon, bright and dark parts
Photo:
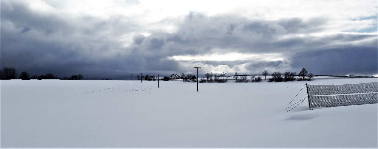
[[31, 75], [378, 76], [377, 1], [2, 0], [1, 68]]

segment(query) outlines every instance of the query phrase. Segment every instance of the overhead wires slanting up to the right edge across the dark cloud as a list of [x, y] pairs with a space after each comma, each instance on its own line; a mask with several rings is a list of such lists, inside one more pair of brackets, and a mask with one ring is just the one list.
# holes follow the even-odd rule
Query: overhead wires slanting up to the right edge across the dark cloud
[[[325, 51], [314, 52], [314, 53], [311, 53], [311, 54], [305, 54], [305, 55], [301, 55], [301, 56], [297, 56], [297, 57], [286, 58], [286, 59], [282, 59], [282, 60], [239, 66], [238, 68], [244, 68], [244, 67], [250, 67], [250, 66], [262, 66], [262, 65], [274, 64], [274, 63], [281, 62], [281, 61], [299, 60], [299, 59], [303, 59], [303, 58], [315, 57], [315, 56], [319, 56], [319, 55], [345, 51], [345, 50], [359, 48], [359, 47], [373, 45], [373, 44], [377, 44], [377, 39], [364, 41], [364, 42], [360, 42], [360, 43], [355, 43], [355, 44], [352, 44], [352, 45], [342, 46], [342, 47], [339, 47], [339, 48], [333, 48], [333, 49], [329, 49], [329, 50], [325, 50]], [[214, 68], [214, 69], [225, 69], [225, 68]], [[232, 69], [232, 68], [226, 68], [226, 69]], [[208, 69], [208, 70], [212, 70], [212, 69]]]

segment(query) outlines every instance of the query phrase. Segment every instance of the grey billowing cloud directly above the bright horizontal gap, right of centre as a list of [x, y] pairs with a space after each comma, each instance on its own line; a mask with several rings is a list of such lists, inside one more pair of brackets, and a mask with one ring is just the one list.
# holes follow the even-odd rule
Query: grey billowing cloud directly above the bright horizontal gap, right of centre
[[[171, 38], [174, 39], [169, 38], [168, 40], [191, 48], [233, 48], [234, 52], [247, 53], [275, 52], [280, 48], [301, 45], [303, 40], [307, 40], [303, 38], [277, 40], [281, 35], [321, 31], [325, 23], [324, 19], [319, 18], [309, 19], [308, 21], [299, 18], [265, 21], [249, 20], [234, 15], [208, 17], [191, 13], [181, 23], [178, 31], [171, 35], [173, 36]], [[190, 53], [188, 50], [182, 52], [198, 54], [198, 52]]]

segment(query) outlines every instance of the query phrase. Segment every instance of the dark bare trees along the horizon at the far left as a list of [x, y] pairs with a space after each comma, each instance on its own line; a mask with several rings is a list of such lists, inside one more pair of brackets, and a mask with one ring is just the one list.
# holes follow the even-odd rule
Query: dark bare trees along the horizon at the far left
[[[18, 76], [18, 77], [17, 77]], [[53, 75], [51, 73], [47, 73], [45, 75], [30, 75], [28, 72], [23, 71], [20, 75], [17, 75], [17, 71], [14, 68], [5, 67], [0, 70], [0, 79], [1, 80], [9, 80], [9, 79], [21, 79], [21, 80], [30, 80], [30, 79], [56, 79], [59, 78], [57, 75]], [[83, 80], [83, 75], [72, 75], [71, 77], [63, 77], [62, 80]]]

